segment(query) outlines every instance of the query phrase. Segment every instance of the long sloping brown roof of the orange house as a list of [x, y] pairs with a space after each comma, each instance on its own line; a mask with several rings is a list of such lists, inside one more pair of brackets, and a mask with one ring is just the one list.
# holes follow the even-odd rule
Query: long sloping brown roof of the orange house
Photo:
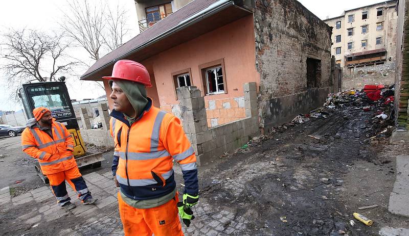
[[140, 48], [141, 46], [149, 43], [150, 41], [153, 41], [157, 37], [165, 34], [167, 31], [177, 27], [177, 25], [180, 22], [208, 8], [210, 5], [218, 1], [219, 0], [194, 0], [193, 2], [184, 6], [183, 8], [180, 8], [179, 10], [170, 14], [166, 18], [158, 21], [157, 23], [152, 25], [152, 27], [146, 29], [144, 32], [133, 37], [131, 40], [129, 40], [122, 46], [111, 51], [110, 53], [96, 61], [94, 65], [92, 65], [83, 75], [81, 75], [81, 79], [87, 80], [88, 76], [91, 73], [109, 64], [115, 63], [117, 60], [120, 60], [122, 57], [126, 56], [132, 51]]

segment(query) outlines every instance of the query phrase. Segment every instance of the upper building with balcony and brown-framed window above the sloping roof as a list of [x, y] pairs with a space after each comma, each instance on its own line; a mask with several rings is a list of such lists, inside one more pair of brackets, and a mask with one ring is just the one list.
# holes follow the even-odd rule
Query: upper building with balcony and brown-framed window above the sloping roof
[[151, 27], [193, 0], [134, 0], [137, 8], [139, 31]]

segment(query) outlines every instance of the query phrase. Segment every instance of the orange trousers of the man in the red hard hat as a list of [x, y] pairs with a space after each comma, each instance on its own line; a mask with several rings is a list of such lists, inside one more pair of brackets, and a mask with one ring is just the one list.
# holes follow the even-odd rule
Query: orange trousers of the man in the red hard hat
[[167, 203], [138, 209], [126, 204], [118, 193], [119, 214], [124, 226], [125, 236], [184, 236], [181, 229], [177, 196]]

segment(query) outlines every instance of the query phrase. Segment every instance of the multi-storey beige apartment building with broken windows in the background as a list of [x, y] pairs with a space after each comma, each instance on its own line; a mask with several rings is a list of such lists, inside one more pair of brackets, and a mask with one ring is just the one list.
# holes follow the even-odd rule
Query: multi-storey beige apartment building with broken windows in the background
[[391, 0], [351, 9], [324, 20], [332, 27], [331, 54], [346, 72], [395, 62], [396, 3]]

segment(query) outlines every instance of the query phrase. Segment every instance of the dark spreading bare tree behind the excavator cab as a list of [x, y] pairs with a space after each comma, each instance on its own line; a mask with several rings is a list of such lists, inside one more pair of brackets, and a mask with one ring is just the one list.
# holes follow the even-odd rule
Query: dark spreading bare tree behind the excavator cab
[[70, 42], [62, 35], [50, 36], [35, 30], [13, 30], [2, 35], [0, 57], [9, 83], [53, 81], [57, 73], [71, 72], [77, 62], [66, 60], [64, 51]]

